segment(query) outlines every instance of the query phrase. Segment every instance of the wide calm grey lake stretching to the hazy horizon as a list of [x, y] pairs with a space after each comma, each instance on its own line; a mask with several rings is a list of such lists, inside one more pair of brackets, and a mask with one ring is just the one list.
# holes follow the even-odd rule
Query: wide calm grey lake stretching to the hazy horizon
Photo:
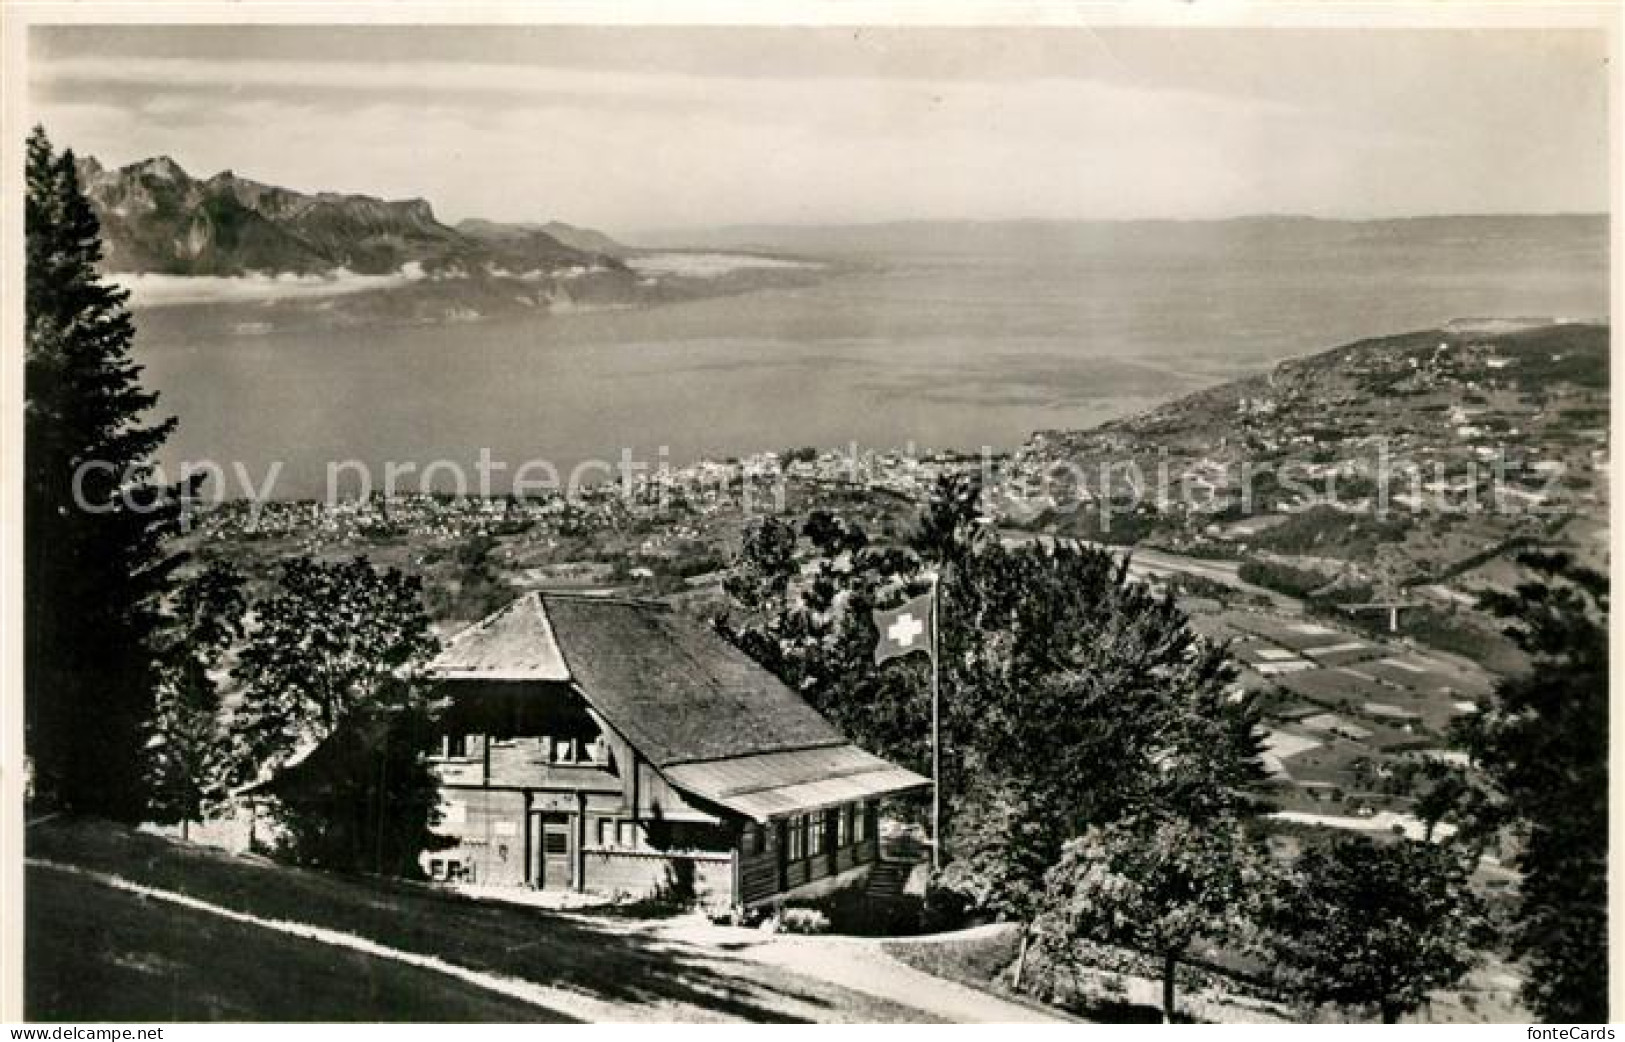
[[[793, 289], [640, 310], [260, 332], [254, 304], [136, 312], [180, 462], [674, 463], [791, 445], [1014, 449], [1272, 363], [1456, 317], [1607, 317], [1606, 218], [751, 229]], [[255, 330], [242, 335], [234, 330]], [[505, 488], [499, 476], [497, 489]]]

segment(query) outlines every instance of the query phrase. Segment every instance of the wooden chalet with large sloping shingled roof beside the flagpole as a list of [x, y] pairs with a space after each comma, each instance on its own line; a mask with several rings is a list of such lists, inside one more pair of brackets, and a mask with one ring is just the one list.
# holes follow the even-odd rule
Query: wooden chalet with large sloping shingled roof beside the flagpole
[[437, 879], [760, 905], [856, 883], [878, 800], [928, 785], [658, 601], [528, 593], [429, 671]]

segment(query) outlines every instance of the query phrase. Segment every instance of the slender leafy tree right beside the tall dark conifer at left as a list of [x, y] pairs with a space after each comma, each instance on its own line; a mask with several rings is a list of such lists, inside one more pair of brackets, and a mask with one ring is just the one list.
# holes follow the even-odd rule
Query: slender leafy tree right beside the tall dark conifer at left
[[146, 779], [153, 818], [179, 821], [182, 836], [223, 787], [229, 761], [218, 675], [242, 637], [245, 608], [242, 575], [228, 564], [210, 564], [176, 590], [148, 728]]

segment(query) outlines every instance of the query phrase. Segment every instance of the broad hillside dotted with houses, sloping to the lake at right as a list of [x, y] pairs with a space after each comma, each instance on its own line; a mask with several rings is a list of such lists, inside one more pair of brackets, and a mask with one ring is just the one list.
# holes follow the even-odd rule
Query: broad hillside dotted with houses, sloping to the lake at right
[[[1360, 340], [1034, 434], [1012, 467], [1063, 497], [1024, 523], [1237, 561], [1238, 579], [1318, 611], [1399, 601], [1388, 626], [1404, 636], [1518, 671], [1521, 652], [1476, 605], [1521, 580], [1510, 558], [1528, 548], [1607, 572], [1609, 369], [1606, 325], [1471, 319]], [[1110, 528], [1069, 509], [1068, 480], [1118, 504]], [[1383, 627], [1370, 613], [1337, 619]]]

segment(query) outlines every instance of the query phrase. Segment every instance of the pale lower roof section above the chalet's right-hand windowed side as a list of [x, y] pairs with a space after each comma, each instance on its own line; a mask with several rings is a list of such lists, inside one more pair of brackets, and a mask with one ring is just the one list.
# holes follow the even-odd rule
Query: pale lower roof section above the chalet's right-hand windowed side
[[678, 764], [663, 774], [678, 788], [754, 821], [930, 785], [855, 745]]

